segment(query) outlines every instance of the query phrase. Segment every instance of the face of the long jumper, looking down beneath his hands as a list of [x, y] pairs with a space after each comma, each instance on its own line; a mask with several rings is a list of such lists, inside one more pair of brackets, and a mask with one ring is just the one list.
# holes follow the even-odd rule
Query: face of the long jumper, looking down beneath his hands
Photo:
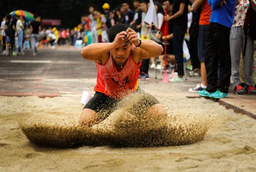
[[127, 41], [124, 46], [115, 48], [111, 51], [113, 59], [118, 64], [123, 64], [131, 53], [131, 43]]

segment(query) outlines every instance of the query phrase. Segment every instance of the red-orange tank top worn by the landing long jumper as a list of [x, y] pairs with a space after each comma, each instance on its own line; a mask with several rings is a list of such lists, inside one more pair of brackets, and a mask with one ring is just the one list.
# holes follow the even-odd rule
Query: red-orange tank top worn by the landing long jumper
[[101, 92], [114, 99], [124, 98], [138, 88], [141, 65], [142, 63], [136, 64], [130, 53], [122, 69], [118, 71], [110, 53], [106, 64], [96, 62], [97, 84], [94, 91]]

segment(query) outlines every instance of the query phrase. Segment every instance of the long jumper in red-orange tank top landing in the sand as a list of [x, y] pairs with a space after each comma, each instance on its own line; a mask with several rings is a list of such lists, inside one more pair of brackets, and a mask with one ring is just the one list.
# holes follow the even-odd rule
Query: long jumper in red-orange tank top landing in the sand
[[142, 59], [159, 56], [162, 46], [150, 40], [141, 41], [125, 24], [112, 26], [108, 36], [110, 43], [92, 43], [81, 51], [84, 59], [95, 61], [97, 83], [94, 97], [85, 105], [79, 124], [98, 124], [117, 110], [118, 103], [134, 96], [136, 103], [131, 102], [128, 109], [133, 110], [128, 112], [146, 115], [161, 127], [162, 120], [167, 120], [167, 112], [156, 98], [140, 89], [138, 77]]

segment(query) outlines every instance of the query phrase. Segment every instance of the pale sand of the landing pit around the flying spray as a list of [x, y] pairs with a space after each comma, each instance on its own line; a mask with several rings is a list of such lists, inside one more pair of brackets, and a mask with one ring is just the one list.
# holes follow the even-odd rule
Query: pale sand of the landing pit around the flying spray
[[119, 148], [82, 146], [56, 149], [36, 146], [23, 134], [19, 122], [44, 114], [53, 120], [79, 119], [79, 96], [38, 98], [0, 96], [0, 171], [187, 171], [255, 172], [256, 120], [236, 114], [204, 98], [189, 99], [178, 86], [143, 85], [170, 116], [198, 115], [210, 121], [203, 140], [183, 146]]

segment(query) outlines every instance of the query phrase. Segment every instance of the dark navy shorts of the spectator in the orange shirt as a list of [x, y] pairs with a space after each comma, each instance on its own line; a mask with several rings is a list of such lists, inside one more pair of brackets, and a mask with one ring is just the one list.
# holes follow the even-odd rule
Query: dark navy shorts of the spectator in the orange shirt
[[209, 24], [199, 25], [198, 27], [198, 58], [199, 62], [204, 62], [206, 38], [209, 30]]

